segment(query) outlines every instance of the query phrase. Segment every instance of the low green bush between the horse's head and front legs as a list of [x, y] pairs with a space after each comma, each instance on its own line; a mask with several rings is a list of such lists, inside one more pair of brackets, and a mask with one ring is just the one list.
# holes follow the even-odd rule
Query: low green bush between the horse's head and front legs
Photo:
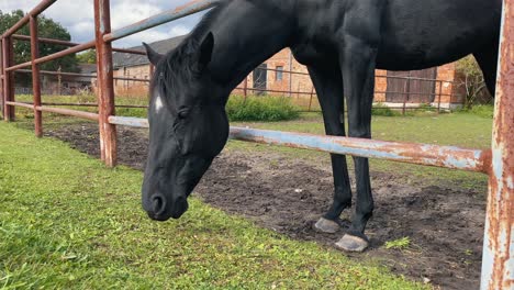
[[300, 108], [283, 97], [231, 96], [226, 104], [231, 121], [286, 121], [297, 119]]

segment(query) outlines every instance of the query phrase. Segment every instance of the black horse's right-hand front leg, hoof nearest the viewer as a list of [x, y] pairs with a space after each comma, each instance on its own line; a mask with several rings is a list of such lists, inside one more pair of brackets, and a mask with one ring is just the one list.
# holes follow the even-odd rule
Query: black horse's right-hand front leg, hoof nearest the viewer
[[[369, 41], [354, 36], [345, 38], [340, 57], [344, 92], [348, 105], [350, 137], [371, 137], [371, 105], [375, 89], [377, 49]], [[349, 252], [362, 252], [368, 245], [366, 224], [372, 215], [373, 197], [369, 178], [368, 158], [354, 157], [357, 198], [351, 226], [336, 246]]]

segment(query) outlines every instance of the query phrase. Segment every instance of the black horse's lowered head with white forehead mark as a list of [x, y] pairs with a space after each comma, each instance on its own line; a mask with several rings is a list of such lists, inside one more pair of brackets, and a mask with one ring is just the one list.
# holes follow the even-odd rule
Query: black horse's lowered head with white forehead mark
[[142, 190], [143, 208], [153, 220], [178, 219], [187, 211], [188, 196], [226, 143], [226, 98], [209, 69], [213, 45], [211, 33], [166, 56], [145, 45], [156, 66]]

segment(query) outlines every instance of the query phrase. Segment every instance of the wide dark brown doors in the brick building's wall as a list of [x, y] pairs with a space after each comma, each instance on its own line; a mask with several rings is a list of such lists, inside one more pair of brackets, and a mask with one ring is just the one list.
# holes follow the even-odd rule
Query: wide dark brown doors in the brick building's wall
[[[417, 79], [405, 79], [405, 78]], [[435, 99], [437, 68], [412, 71], [388, 71], [387, 102], [432, 103]], [[431, 79], [431, 80], [422, 80]]]

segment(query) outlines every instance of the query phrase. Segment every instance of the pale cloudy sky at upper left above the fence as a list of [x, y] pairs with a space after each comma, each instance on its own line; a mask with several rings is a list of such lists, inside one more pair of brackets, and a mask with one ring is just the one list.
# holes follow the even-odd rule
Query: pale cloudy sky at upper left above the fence
[[[41, 0], [0, 0], [3, 13], [21, 9], [32, 10]], [[175, 9], [190, 0], [111, 0], [111, 26], [120, 29], [149, 18], [159, 12]], [[57, 0], [44, 13], [60, 23], [71, 34], [71, 41], [89, 42], [94, 37], [93, 0]], [[142, 42], [152, 43], [187, 34], [200, 21], [197, 13], [114, 42], [114, 47], [132, 47]]]

